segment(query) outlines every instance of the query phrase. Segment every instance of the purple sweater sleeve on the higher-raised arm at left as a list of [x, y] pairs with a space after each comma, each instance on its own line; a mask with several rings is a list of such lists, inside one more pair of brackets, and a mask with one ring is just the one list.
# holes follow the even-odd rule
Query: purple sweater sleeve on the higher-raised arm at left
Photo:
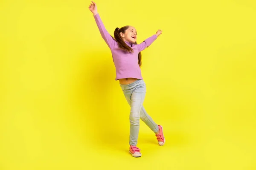
[[108, 47], [110, 49], [112, 49], [114, 47], [115, 43], [117, 43], [116, 40], [114, 40], [113, 37], [106, 30], [106, 28], [105, 28], [105, 26], [104, 26], [104, 24], [103, 24], [103, 22], [102, 22], [102, 20], [101, 20], [101, 18], [99, 16], [99, 13], [94, 15], [93, 17], [94, 17], [94, 19], [96, 21], [96, 24], [97, 24], [97, 26], [99, 28], [99, 32], [100, 32], [102, 38], [107, 43]]

